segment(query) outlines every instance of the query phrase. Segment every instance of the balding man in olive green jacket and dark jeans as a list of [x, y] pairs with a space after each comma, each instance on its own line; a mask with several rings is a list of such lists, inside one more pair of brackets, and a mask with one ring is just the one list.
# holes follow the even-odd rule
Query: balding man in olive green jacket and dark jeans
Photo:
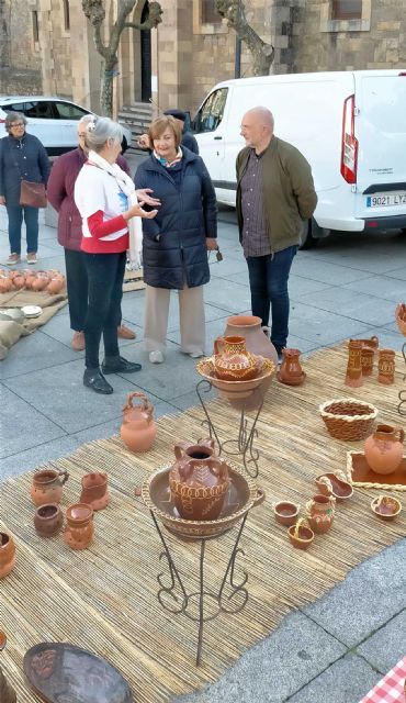
[[289, 274], [317, 196], [305, 157], [274, 136], [270, 110], [246, 112], [241, 135], [247, 146], [237, 156], [237, 216], [252, 314], [267, 327], [271, 309], [271, 342], [281, 358], [289, 332]]

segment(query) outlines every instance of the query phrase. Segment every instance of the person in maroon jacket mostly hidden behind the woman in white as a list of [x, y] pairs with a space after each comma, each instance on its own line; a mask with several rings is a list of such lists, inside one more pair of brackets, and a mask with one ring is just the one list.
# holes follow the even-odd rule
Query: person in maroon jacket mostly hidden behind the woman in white
[[[75, 204], [75, 182], [80, 169], [88, 158], [84, 144], [86, 126], [92, 122], [93, 115], [87, 114], [78, 122], [78, 148], [63, 154], [53, 165], [48, 180], [48, 200], [58, 213], [58, 242], [64, 247], [66, 282], [70, 327], [74, 330], [71, 346], [76, 352], [84, 349], [84, 321], [88, 308], [88, 272], [84, 255], [80, 250], [82, 238], [82, 221]], [[117, 165], [131, 176], [126, 159], [119, 154]], [[139, 198], [148, 201], [147, 193], [139, 193]], [[150, 201], [151, 204], [153, 201]], [[122, 324], [120, 319], [119, 337], [135, 339], [135, 334]]]

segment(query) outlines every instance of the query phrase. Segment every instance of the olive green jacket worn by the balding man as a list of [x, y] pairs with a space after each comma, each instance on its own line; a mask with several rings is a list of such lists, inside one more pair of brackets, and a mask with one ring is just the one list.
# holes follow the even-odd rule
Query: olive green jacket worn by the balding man
[[[237, 216], [243, 239], [241, 178], [251, 148], [237, 156]], [[300, 244], [304, 220], [312, 217], [317, 196], [312, 169], [295, 146], [272, 136], [263, 156], [263, 208], [272, 252]]]

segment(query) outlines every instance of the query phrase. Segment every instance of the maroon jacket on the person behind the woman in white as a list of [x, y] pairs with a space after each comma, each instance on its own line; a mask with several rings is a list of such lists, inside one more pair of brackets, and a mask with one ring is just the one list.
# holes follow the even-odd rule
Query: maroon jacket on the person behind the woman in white
[[[87, 156], [81, 148], [63, 154], [56, 159], [48, 181], [48, 200], [58, 212], [58, 242], [66, 249], [80, 250], [82, 219], [75, 204], [75, 182]], [[123, 156], [117, 164], [128, 176], [129, 167]]]

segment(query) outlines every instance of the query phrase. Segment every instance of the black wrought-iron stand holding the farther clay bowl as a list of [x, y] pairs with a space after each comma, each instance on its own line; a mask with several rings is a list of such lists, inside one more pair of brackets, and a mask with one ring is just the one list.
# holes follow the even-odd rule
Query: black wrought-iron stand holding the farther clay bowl
[[218, 434], [216, 432], [216, 428], [213, 424], [213, 421], [210, 416], [207, 405], [205, 404], [203, 399], [203, 393], [208, 393], [213, 388], [214, 388], [213, 384], [206, 379], [199, 381], [196, 386], [198, 398], [200, 400], [200, 403], [205, 414], [205, 420], [203, 421], [202, 424], [208, 427], [210, 436], [214, 437], [214, 439], [216, 440], [218, 455], [221, 456], [222, 453], [224, 451], [224, 454], [227, 454], [229, 456], [241, 456], [244, 468], [246, 469], [248, 476], [255, 479], [258, 476], [259, 451], [257, 448], [255, 448], [253, 440], [258, 437], [258, 431], [256, 425], [262, 410], [263, 395], [258, 391], [253, 391], [253, 393], [257, 393], [256, 394], [257, 402], [255, 403], [256, 405], [253, 409], [255, 416], [250, 427], [248, 425], [248, 420], [246, 417], [247, 411], [244, 408], [244, 400], [240, 401], [241, 408], [240, 410], [237, 411], [240, 413], [239, 424], [238, 424], [238, 436], [236, 439], [226, 439], [225, 442], [221, 442]]

